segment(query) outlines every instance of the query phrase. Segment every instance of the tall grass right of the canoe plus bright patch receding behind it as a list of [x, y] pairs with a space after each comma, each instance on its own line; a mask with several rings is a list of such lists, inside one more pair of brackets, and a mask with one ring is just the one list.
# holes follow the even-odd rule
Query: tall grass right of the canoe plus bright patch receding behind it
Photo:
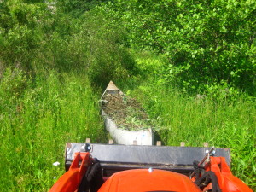
[[206, 95], [189, 95], [174, 84], [167, 86], [157, 75], [165, 65], [161, 57], [137, 54], [136, 60], [145, 75], [121, 84], [143, 103], [162, 142], [171, 146], [185, 142], [191, 147], [202, 147], [207, 142], [231, 148], [233, 174], [255, 189], [255, 98], [222, 86]]

